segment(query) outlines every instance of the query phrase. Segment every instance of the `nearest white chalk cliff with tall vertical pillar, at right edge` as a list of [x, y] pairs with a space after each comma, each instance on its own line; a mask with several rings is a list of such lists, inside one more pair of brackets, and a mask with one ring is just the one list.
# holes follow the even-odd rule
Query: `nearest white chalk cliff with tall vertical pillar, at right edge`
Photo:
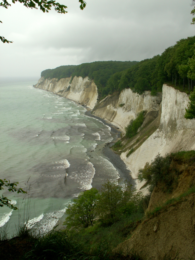
[[[158, 153], [195, 150], [195, 120], [185, 119], [188, 95], [172, 87], [163, 85], [162, 113], [159, 128], [129, 157], [121, 154], [122, 160], [137, 178], [139, 168], [153, 160]], [[138, 189], [144, 183], [137, 183]]]

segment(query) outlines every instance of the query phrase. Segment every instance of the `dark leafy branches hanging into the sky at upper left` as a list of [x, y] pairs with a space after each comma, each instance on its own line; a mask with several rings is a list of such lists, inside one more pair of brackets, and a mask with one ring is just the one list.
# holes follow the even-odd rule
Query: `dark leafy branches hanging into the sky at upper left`
[[[53, 6], [55, 11], [60, 13], [60, 14], [65, 14], [67, 13], [67, 11], [65, 10], [67, 8], [66, 5], [61, 5], [60, 3], [56, 3], [55, 0], [12, 0], [12, 3], [15, 4], [15, 2], [20, 2], [21, 4], [23, 3], [24, 6], [26, 6], [27, 8], [35, 8], [38, 9], [38, 7], [40, 8], [41, 11], [43, 12], [49, 12], [49, 10], [51, 10], [51, 7]], [[79, 2], [81, 3], [80, 5], [80, 9], [83, 10], [86, 6], [86, 2], [84, 2], [83, 0], [79, 0]], [[8, 3], [7, 0], [3, 0], [3, 2], [0, 3], [0, 6], [4, 7], [4, 8], [8, 8], [9, 6], [11, 6], [10, 3]], [[37, 7], [38, 6], [38, 7]], [[0, 21], [2, 23], [2, 21]], [[0, 36], [0, 40], [3, 43], [12, 43], [12, 41], [8, 41], [7, 39], [5, 39], [3, 36]]]

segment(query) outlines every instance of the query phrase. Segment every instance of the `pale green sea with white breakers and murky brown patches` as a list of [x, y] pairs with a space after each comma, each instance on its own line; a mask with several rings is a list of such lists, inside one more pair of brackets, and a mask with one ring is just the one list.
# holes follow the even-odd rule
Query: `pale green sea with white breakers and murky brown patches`
[[28, 192], [0, 193], [18, 207], [0, 207], [9, 236], [27, 220], [40, 232], [51, 230], [80, 192], [122, 175], [103, 153], [118, 132], [76, 102], [34, 88], [37, 80], [0, 81], [0, 179]]

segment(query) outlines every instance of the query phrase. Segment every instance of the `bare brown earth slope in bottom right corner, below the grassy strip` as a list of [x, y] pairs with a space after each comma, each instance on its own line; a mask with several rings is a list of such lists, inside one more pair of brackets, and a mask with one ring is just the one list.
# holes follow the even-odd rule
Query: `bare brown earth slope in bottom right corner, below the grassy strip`
[[177, 255], [177, 259], [194, 259], [194, 214], [192, 193], [146, 218], [117, 249], [124, 253], [135, 250], [147, 259], [175, 259]]

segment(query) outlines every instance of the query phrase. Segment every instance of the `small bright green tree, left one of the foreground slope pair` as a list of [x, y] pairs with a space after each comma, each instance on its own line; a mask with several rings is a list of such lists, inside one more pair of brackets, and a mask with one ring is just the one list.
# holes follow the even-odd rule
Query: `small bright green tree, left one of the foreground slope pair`
[[93, 226], [93, 221], [97, 218], [98, 198], [99, 192], [95, 188], [81, 192], [78, 198], [73, 200], [73, 204], [68, 206], [64, 225], [87, 228], [90, 223]]

